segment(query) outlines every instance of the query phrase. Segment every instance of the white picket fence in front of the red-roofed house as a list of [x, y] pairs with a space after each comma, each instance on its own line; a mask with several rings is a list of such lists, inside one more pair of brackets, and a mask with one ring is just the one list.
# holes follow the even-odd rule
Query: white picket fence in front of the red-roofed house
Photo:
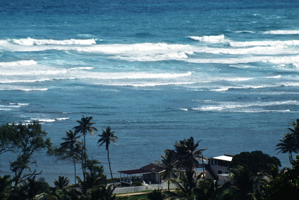
[[[151, 184], [151, 185], [142, 185], [142, 186], [132, 186], [132, 187], [117, 187], [113, 193], [134, 193], [141, 192], [144, 190], [154, 190], [154, 189], [168, 189], [168, 183], [162, 182], [162, 184]], [[170, 183], [170, 189], [175, 189], [176, 186]]]

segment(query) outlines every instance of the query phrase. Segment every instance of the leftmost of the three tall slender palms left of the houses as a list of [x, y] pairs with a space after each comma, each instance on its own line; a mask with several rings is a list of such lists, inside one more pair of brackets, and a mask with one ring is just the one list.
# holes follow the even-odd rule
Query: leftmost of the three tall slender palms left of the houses
[[74, 133], [72, 130], [65, 131], [66, 137], [62, 138], [65, 142], [60, 144], [61, 149], [69, 149], [71, 151], [71, 156], [74, 161], [74, 170], [75, 170], [75, 189], [76, 189], [76, 159], [75, 159], [75, 151], [76, 149], [80, 149], [80, 142], [78, 141], [81, 135], [77, 136], [77, 133]]

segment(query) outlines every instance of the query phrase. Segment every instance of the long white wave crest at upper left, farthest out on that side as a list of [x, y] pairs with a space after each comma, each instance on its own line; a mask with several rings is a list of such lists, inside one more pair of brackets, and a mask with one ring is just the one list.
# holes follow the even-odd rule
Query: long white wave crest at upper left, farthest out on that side
[[12, 39], [13, 43], [24, 45], [24, 46], [33, 46], [33, 45], [91, 45], [95, 44], [95, 39], [87, 40], [41, 40], [41, 39], [32, 39], [30, 37], [26, 39]]

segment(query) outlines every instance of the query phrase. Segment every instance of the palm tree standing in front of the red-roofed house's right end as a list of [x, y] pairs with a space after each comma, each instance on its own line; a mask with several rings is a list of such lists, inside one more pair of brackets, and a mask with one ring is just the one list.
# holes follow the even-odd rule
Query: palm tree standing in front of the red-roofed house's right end
[[165, 156], [161, 156], [162, 160], [158, 161], [157, 164], [160, 166], [159, 168], [165, 169], [164, 173], [161, 175], [163, 180], [168, 180], [168, 191], [170, 192], [170, 175], [173, 178], [177, 178], [176, 172], [178, 171], [175, 169], [176, 163], [178, 160], [176, 159], [176, 152], [174, 150], [164, 150]]

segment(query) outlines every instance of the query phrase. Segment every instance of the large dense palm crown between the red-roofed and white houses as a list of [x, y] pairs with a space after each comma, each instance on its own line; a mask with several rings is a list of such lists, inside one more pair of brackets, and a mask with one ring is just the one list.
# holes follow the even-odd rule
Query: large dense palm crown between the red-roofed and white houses
[[206, 149], [197, 149], [199, 140], [194, 144], [193, 137], [189, 139], [176, 141], [174, 147], [176, 149], [177, 159], [180, 160], [180, 166], [183, 166], [185, 169], [191, 171], [194, 168], [199, 167], [199, 161], [202, 159], [202, 151]]

